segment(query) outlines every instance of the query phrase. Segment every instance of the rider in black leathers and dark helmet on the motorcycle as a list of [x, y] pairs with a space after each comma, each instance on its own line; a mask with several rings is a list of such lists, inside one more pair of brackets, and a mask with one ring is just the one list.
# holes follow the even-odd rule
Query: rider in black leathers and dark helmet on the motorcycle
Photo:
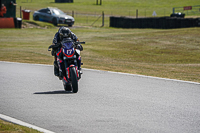
[[[78, 40], [78, 37], [73, 33], [71, 32], [71, 30], [67, 27], [60, 27], [58, 32], [55, 34], [54, 36], [54, 39], [53, 39], [53, 42], [52, 42], [52, 45], [58, 45], [59, 47], [58, 48], [54, 48], [52, 50], [52, 56], [55, 57], [55, 61], [54, 61], [54, 75], [55, 76], [58, 76], [58, 77], [61, 77], [62, 75], [59, 73], [59, 67], [61, 66], [61, 62], [62, 60], [60, 60], [57, 55], [60, 51], [60, 48], [61, 48], [61, 45], [60, 43], [62, 42], [63, 38], [71, 38], [74, 42], [79, 42]], [[78, 44], [76, 46], [77, 49], [79, 49], [80, 51], [83, 50], [83, 47], [81, 44]], [[78, 55], [78, 53], [76, 53], [76, 57], [77, 57], [77, 64], [78, 64], [78, 70], [79, 70], [79, 73], [82, 74], [81, 72], [81, 56]]]

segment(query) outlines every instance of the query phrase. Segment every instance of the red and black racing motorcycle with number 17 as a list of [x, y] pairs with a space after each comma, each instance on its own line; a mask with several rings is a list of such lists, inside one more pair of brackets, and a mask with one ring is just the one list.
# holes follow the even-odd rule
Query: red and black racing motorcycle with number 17
[[[78, 44], [85, 44], [85, 42], [74, 42], [71, 38], [64, 38], [59, 45], [50, 45], [50, 49], [61, 47], [57, 52], [57, 56], [60, 57], [62, 61], [59, 67], [60, 77], [59, 79], [63, 81], [63, 86], [65, 91], [71, 91], [73, 93], [78, 92], [78, 81], [81, 78], [81, 72], [78, 70], [77, 55], [80, 58], [80, 50], [77, 49]], [[80, 64], [80, 66], [83, 63]]]

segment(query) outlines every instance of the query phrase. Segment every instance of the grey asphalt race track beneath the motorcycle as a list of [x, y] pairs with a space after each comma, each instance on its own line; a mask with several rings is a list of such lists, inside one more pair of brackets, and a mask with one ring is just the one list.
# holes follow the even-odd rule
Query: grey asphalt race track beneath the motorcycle
[[83, 69], [77, 94], [53, 66], [0, 61], [0, 114], [56, 133], [199, 133], [200, 84]]

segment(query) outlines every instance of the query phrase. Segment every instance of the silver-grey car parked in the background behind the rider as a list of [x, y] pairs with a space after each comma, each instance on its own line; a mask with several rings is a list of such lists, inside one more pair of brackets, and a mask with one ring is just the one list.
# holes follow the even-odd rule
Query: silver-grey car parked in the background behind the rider
[[36, 21], [53, 23], [55, 26], [58, 24], [67, 24], [70, 27], [75, 21], [72, 16], [66, 15], [63, 11], [52, 7], [35, 11], [33, 14], [33, 19]]

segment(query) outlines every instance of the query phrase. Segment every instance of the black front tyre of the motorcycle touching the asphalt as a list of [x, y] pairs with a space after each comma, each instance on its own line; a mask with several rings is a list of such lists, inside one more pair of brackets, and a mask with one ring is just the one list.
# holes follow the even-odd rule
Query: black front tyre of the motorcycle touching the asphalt
[[75, 67], [70, 68], [70, 77], [71, 77], [71, 83], [72, 83], [72, 92], [77, 93], [78, 92], [78, 78], [77, 78]]

